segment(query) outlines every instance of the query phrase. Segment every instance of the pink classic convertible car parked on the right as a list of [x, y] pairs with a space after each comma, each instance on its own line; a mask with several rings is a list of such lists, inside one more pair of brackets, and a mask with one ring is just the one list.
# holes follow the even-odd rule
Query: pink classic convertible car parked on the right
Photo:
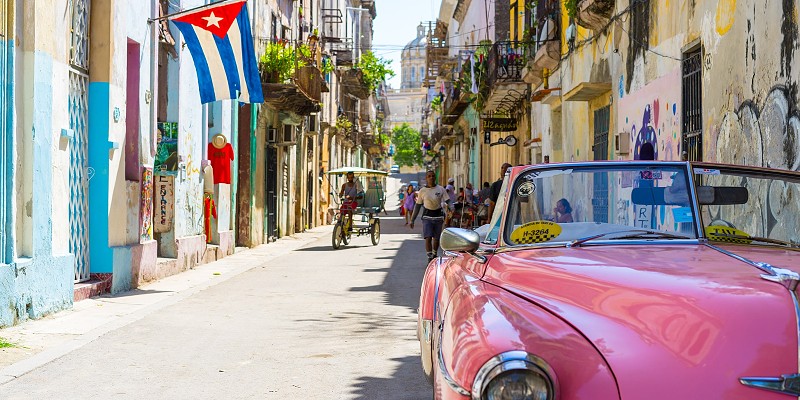
[[441, 245], [418, 321], [436, 399], [800, 396], [800, 173], [516, 167]]

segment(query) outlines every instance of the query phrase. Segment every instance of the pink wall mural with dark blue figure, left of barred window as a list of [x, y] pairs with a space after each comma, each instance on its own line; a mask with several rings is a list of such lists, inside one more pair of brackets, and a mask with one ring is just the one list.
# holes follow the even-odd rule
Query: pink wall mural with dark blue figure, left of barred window
[[630, 157], [680, 159], [680, 102], [679, 68], [620, 98], [617, 121], [630, 132]]

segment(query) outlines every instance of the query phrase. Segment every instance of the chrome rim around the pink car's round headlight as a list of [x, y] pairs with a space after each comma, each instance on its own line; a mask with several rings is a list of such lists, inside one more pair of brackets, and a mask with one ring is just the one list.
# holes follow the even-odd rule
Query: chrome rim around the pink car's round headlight
[[481, 400], [486, 385], [496, 376], [506, 371], [528, 370], [542, 375], [550, 385], [550, 397], [548, 400], [557, 398], [555, 374], [550, 365], [543, 359], [521, 350], [507, 351], [500, 353], [489, 359], [478, 373], [472, 383], [472, 400]]

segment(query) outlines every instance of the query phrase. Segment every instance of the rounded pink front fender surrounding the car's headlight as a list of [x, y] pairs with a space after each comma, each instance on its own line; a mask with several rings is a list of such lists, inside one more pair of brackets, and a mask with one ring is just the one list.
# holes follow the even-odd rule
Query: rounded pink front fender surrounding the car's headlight
[[583, 335], [538, 305], [483, 281], [465, 280], [450, 293], [436, 336], [438, 391], [463, 396], [464, 390], [473, 391], [475, 375], [487, 361], [525, 351], [552, 369], [557, 398], [619, 399], [606, 360]]

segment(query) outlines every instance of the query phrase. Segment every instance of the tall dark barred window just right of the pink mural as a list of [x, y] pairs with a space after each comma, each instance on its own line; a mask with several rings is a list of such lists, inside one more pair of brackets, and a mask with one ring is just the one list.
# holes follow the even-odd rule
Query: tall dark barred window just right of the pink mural
[[684, 160], [703, 159], [703, 52], [698, 47], [683, 55], [683, 120], [681, 153]]

